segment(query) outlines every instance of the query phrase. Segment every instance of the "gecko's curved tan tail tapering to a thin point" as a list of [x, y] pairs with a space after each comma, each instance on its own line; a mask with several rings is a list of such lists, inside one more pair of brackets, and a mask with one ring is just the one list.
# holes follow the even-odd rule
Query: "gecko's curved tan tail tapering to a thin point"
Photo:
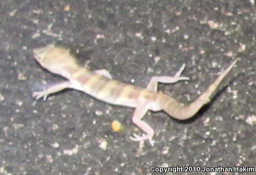
[[176, 103], [175, 108], [169, 108], [169, 106], [163, 105], [163, 110], [178, 120], [186, 120], [193, 117], [205, 104], [210, 102], [210, 96], [213, 94], [224, 77], [226, 77], [226, 75], [230, 72], [236, 62], [237, 60], [235, 60], [226, 70], [224, 70], [220, 76], [207, 88], [207, 90], [204, 91], [203, 94], [201, 94], [200, 97], [190, 105], [183, 106], [180, 103]]

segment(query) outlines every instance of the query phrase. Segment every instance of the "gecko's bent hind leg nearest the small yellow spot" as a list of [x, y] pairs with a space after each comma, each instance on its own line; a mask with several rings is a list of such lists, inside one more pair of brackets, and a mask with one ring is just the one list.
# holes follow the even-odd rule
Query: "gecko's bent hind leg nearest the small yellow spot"
[[132, 121], [134, 124], [136, 124], [142, 131], [144, 131], [146, 134], [143, 134], [142, 136], [134, 134], [134, 137], [130, 137], [132, 141], [143, 141], [143, 140], [149, 140], [151, 146], [154, 146], [154, 140], [152, 139], [154, 136], [154, 130], [151, 128], [149, 124], [147, 124], [145, 121], [141, 120], [144, 115], [147, 113], [147, 110], [149, 108], [148, 102], [141, 102], [135, 109], [132, 117]]

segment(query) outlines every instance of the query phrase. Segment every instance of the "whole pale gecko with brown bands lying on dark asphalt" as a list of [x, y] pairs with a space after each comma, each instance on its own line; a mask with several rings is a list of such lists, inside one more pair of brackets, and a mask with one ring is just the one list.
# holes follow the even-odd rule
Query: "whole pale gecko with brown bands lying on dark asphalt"
[[178, 120], [186, 120], [193, 117], [202, 106], [210, 102], [210, 96], [216, 90], [218, 84], [221, 83], [223, 78], [226, 77], [226, 74], [230, 72], [237, 62], [235, 60], [218, 76], [206, 91], [194, 102], [185, 106], [174, 98], [157, 91], [158, 83], [171, 84], [181, 80], [189, 80], [188, 77], [181, 76], [185, 64], [181, 66], [173, 77], [154, 76], [151, 78], [149, 84], [147, 84], [147, 87], [142, 88], [113, 80], [106, 69], [90, 71], [84, 66], [80, 66], [69, 49], [64, 47], [56, 47], [53, 44], [49, 44], [46, 47], [34, 49], [33, 55], [35, 60], [43, 68], [66, 79], [63, 82], [47, 87], [43, 91], [34, 92], [33, 97], [36, 99], [42, 97], [46, 100], [49, 94], [65, 88], [73, 88], [112, 105], [135, 108], [132, 122], [144, 134], [134, 134], [130, 139], [138, 142], [148, 140], [152, 146], [154, 146], [154, 130], [147, 122], [142, 120], [148, 110], [163, 110], [169, 116]]

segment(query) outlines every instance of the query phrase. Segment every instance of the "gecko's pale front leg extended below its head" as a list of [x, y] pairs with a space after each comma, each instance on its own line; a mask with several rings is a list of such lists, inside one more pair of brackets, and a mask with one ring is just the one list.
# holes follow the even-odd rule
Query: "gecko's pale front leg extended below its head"
[[53, 86], [50, 86], [47, 89], [45, 89], [44, 91], [34, 92], [32, 96], [35, 97], [37, 100], [41, 97], [43, 97], [44, 100], [46, 100], [46, 98], [49, 94], [53, 94], [55, 92], [69, 88], [70, 86], [71, 86], [71, 83], [69, 81], [64, 81], [64, 82], [55, 84]]

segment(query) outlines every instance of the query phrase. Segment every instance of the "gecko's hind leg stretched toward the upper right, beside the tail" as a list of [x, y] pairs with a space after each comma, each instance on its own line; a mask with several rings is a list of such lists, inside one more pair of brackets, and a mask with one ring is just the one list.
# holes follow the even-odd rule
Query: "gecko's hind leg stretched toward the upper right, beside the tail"
[[176, 83], [180, 80], [189, 80], [189, 77], [181, 77], [181, 73], [185, 68], [185, 64], [181, 66], [179, 71], [174, 75], [174, 77], [168, 77], [168, 76], [160, 76], [160, 77], [152, 77], [149, 84], [147, 85], [147, 89], [150, 91], [157, 91], [158, 82], [160, 83]]

